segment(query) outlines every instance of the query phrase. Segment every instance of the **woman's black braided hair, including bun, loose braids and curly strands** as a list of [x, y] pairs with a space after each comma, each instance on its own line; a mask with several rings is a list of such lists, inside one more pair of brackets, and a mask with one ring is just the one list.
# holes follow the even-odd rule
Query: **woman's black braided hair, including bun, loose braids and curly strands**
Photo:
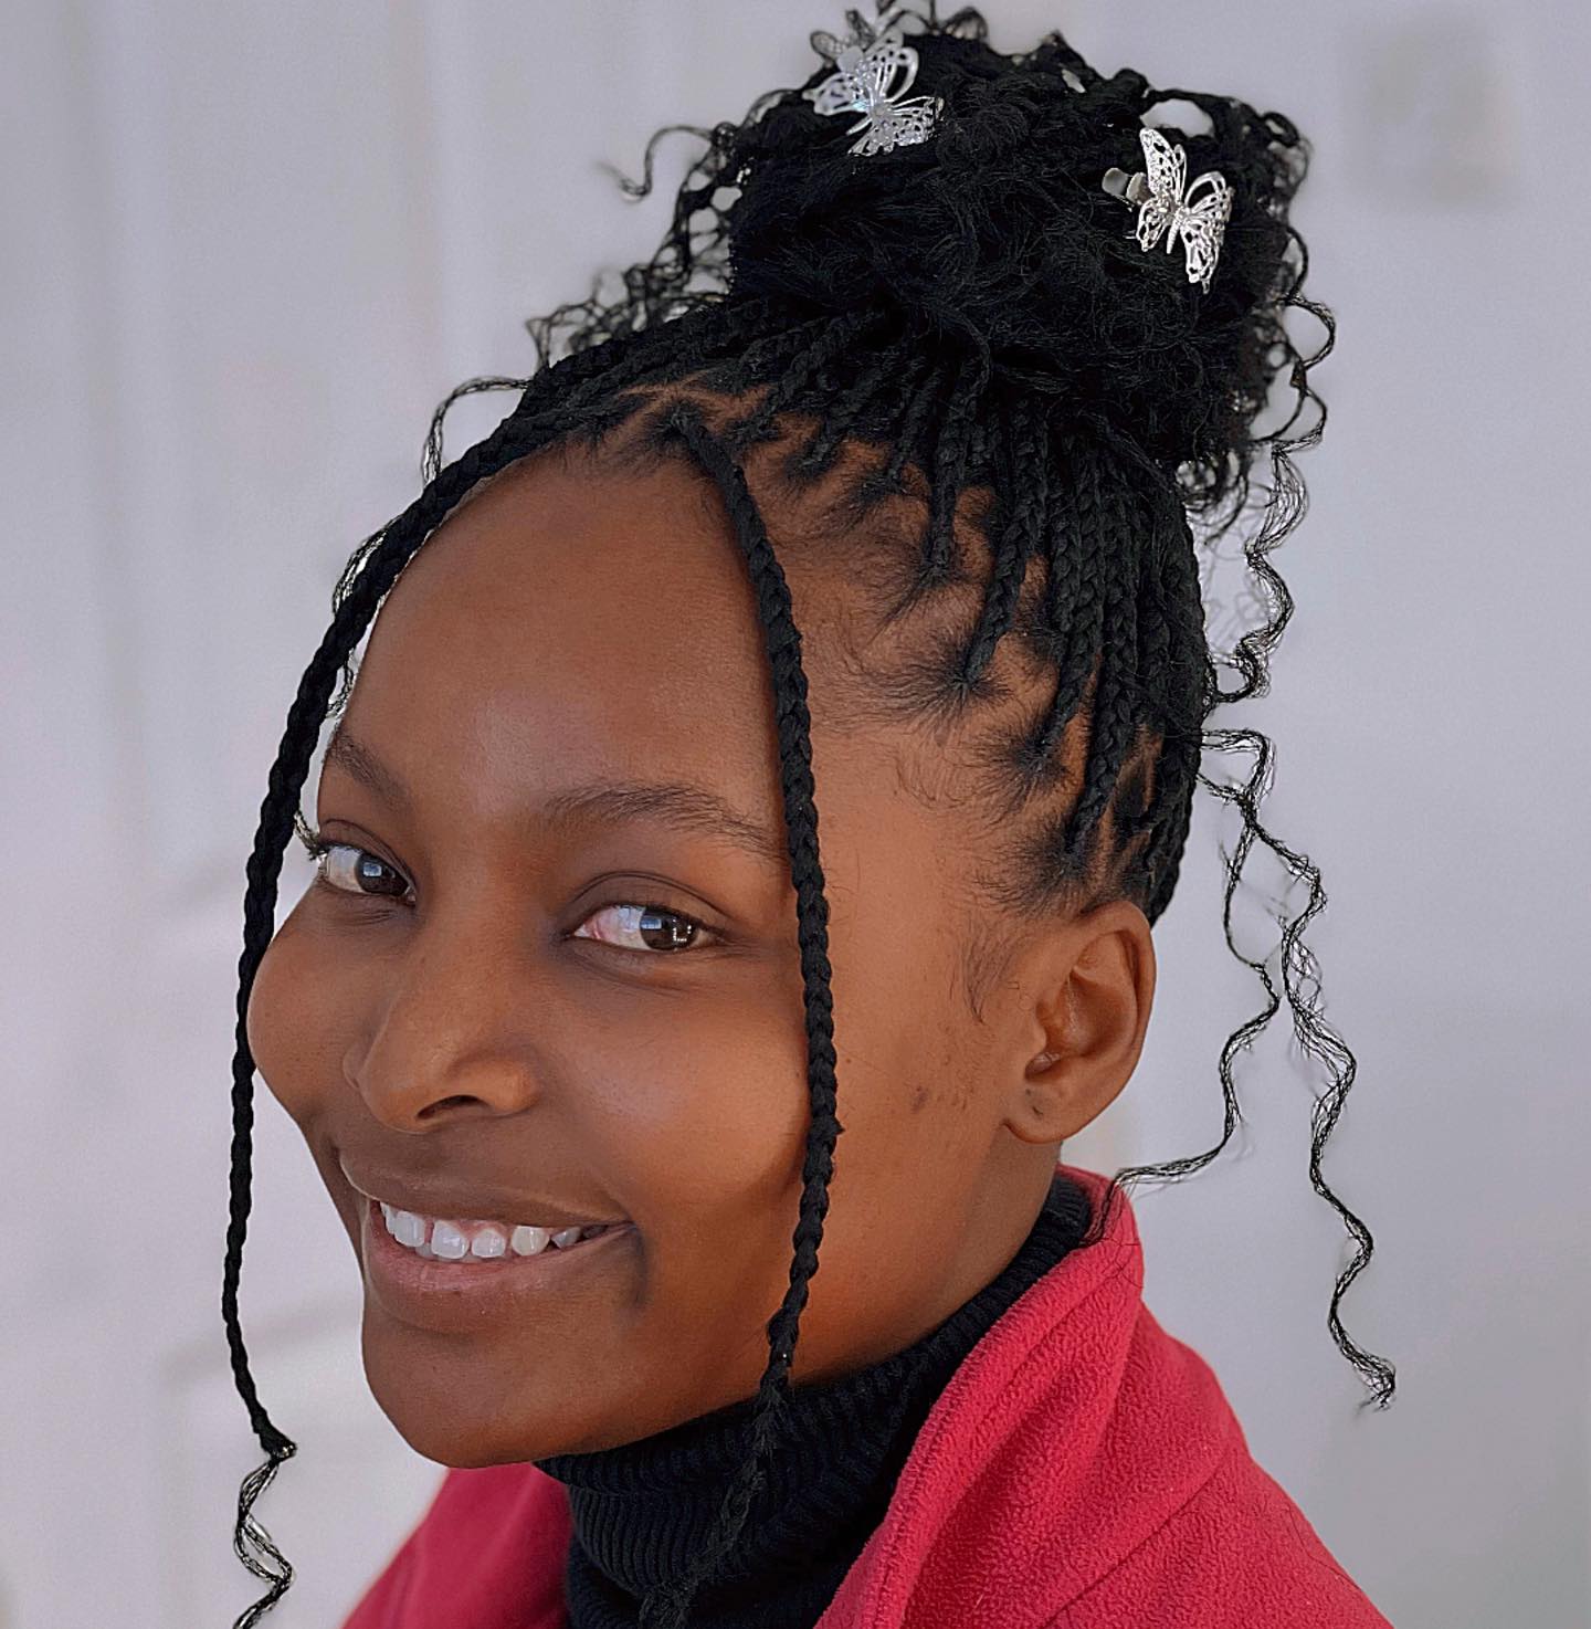
[[[528, 323], [537, 349], [528, 378], [471, 380], [441, 404], [423, 492], [353, 551], [335, 585], [332, 622], [288, 712], [248, 862], [221, 1315], [236, 1385], [267, 1453], [239, 1489], [234, 1548], [270, 1588], [234, 1629], [256, 1624], [293, 1577], [251, 1513], [296, 1445], [259, 1403], [238, 1324], [254, 1075], [244, 1013], [272, 935], [282, 852], [295, 824], [308, 836], [298, 798], [319, 730], [347, 702], [355, 650], [384, 595], [456, 505], [531, 453], [560, 441], [599, 450], [625, 424], [642, 428], [651, 456], [687, 459], [720, 494], [754, 588], [777, 699], [811, 1101], [790, 1290], [767, 1324], [749, 1453], [713, 1543], [677, 1588], [642, 1603], [642, 1624], [689, 1622], [692, 1600], [764, 1484], [844, 1131], [801, 635], [747, 474], [757, 450], [791, 430], [793, 451], [780, 463], [790, 494], [840, 469], [847, 450], [866, 454], [844, 466], [831, 549], [863, 549], [879, 505], [920, 512], [907, 569], [883, 595], [886, 621], [967, 583], [979, 590], [977, 614], [956, 637], [936, 640], [904, 671], [870, 676], [868, 705], [943, 718], [975, 710], [1000, 689], [990, 670], [1006, 640], [1054, 679], [1032, 717], [990, 728], [977, 746], [990, 810], [1010, 834], [980, 880], [992, 909], [1044, 917], [1129, 898], [1153, 924], [1176, 888], [1195, 787], [1243, 814], [1226, 858], [1223, 922], [1267, 1005], [1223, 1047], [1223, 1135], [1195, 1157], [1117, 1171], [1086, 1243], [1104, 1233], [1127, 1186], [1182, 1178], [1226, 1147], [1241, 1117], [1233, 1056], [1282, 999], [1267, 964], [1233, 943], [1233, 896], [1256, 841], [1308, 881], [1304, 909], [1278, 911], [1277, 920], [1295, 1033], [1332, 1077], [1317, 1098], [1309, 1176], [1355, 1241], [1327, 1321], [1368, 1383], [1365, 1401], [1392, 1398], [1392, 1365], [1360, 1347], [1339, 1316], [1373, 1240], [1321, 1175], [1355, 1075], [1353, 1054], [1321, 1016], [1319, 968], [1301, 940], [1324, 906], [1321, 875], [1259, 821], [1270, 741], [1257, 730], [1205, 728], [1218, 704], [1265, 694], [1267, 656], [1293, 609], [1265, 555], [1304, 512], [1290, 454], [1324, 425], [1308, 375], [1335, 332], [1330, 311], [1301, 293], [1308, 257], [1288, 222], [1308, 143], [1283, 116], [1234, 98], [1155, 90], [1127, 68], [1106, 78], [1058, 33], [1003, 55], [971, 7], [941, 20], [930, 0], [927, 15], [907, 15], [920, 57], [914, 90], [943, 99], [927, 142], [852, 155], [847, 121], [819, 116], [801, 96], [827, 64], [806, 86], [760, 96], [743, 122], [694, 130], [705, 150], [686, 173], [656, 254], [629, 267], [616, 292], [598, 280], [586, 300]], [[1101, 187], [1107, 169], [1142, 163], [1138, 130], [1163, 101], [1208, 119], [1207, 132], [1159, 127], [1186, 147], [1189, 173], [1215, 168], [1233, 189], [1208, 290], [1187, 280], [1181, 256], [1142, 251], [1120, 200]], [[656, 142], [687, 129], [660, 130], [643, 179], [624, 181], [625, 191], [650, 192]], [[1322, 326], [1313, 355], [1288, 334], [1290, 310]], [[1256, 422], [1283, 378], [1293, 412], [1260, 435]], [[448, 407], [485, 389], [516, 389], [519, 401], [492, 435], [445, 464]], [[1262, 453], [1269, 479], [1251, 481]], [[982, 500], [972, 502], [971, 531], [987, 555], [977, 565], [964, 557], [971, 500]], [[1208, 542], [1252, 516], [1244, 557], [1270, 619], [1238, 642], [1228, 660], [1243, 683], [1223, 689], [1205, 635], [1195, 526]], [[1207, 746], [1254, 753], [1252, 772], [1239, 785], [1208, 779]], [[985, 943], [969, 968], [974, 1012], [997, 966]]]

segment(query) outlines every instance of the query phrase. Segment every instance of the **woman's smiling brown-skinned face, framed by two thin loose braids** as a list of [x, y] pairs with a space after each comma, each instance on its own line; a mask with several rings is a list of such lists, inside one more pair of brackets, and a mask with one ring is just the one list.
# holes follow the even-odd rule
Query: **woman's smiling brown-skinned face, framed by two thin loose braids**
[[[803, 629], [817, 591], [791, 575]], [[845, 1129], [796, 1383], [982, 1289], [1075, 1129], [1024, 1074], [1042, 977], [1000, 981], [982, 1023], [962, 999], [958, 814], [920, 792], [935, 743], [827, 731], [822, 642], [803, 655]], [[360, 1262], [371, 1390], [440, 1463], [614, 1447], [756, 1391], [808, 1127], [772, 720], [744, 565], [684, 464], [506, 471], [371, 630], [319, 784], [335, 847], [248, 1026]], [[1143, 1008], [1117, 1025], [1125, 1080], [1142, 964], [1115, 986]], [[366, 1196], [624, 1225], [568, 1256], [394, 1267]]]

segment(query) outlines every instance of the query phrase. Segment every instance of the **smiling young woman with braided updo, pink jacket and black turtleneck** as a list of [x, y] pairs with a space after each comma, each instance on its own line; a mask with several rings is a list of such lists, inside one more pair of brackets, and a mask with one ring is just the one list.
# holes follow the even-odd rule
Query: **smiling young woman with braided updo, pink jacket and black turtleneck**
[[[1319, 1173], [1352, 1078], [1319, 878], [1259, 824], [1267, 753], [1200, 772], [1269, 746], [1203, 722], [1290, 613], [1264, 554], [1317, 420], [1254, 425], [1282, 370], [1316, 402], [1286, 308], [1329, 331], [1304, 145], [971, 10], [850, 28], [700, 132], [658, 254], [534, 324], [446, 466], [445, 404], [293, 702], [234, 1065], [239, 1624], [291, 1579], [236, 1318], [256, 1067], [353, 1245], [370, 1386], [449, 1466], [347, 1629], [1384, 1624], [1143, 1306], [1125, 1183], [1220, 1150], [1058, 1163], [1140, 1056], [1202, 780], [1244, 814], [1228, 911], [1254, 839], [1311, 883], [1332, 1329], [1391, 1396], [1337, 1321], [1370, 1235]], [[1262, 450], [1277, 614], [1223, 691], [1192, 521], [1254, 513]], [[295, 819], [319, 872], [272, 938]]]

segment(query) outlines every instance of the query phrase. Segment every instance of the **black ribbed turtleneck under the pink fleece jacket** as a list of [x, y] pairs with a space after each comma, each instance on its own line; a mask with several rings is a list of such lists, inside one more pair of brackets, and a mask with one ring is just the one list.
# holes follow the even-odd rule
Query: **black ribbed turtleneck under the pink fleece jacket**
[[[1058, 1171], [1008, 1266], [914, 1346], [790, 1393], [790, 1437], [726, 1564], [702, 1590], [702, 1629], [811, 1629], [883, 1520], [912, 1443], [951, 1375], [993, 1323], [1088, 1228], [1088, 1196]], [[640, 1442], [534, 1461], [568, 1487], [572, 1629], [633, 1629], [640, 1598], [682, 1575], [746, 1453], [752, 1399]]]

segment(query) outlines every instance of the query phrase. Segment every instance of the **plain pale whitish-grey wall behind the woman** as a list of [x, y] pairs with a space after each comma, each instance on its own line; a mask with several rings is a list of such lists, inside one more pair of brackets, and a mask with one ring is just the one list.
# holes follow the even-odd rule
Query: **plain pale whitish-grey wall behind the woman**
[[[1399, 1401], [1355, 1411], [1324, 1328], [1343, 1245], [1285, 1013], [1239, 1065], [1241, 1153], [1140, 1194], [1150, 1303], [1399, 1629], [1584, 1626], [1591, 16], [985, 10], [1001, 49], [1060, 24], [1107, 72], [1295, 117], [1311, 287], [1342, 321], [1313, 512], [1277, 555], [1298, 614], [1246, 712], [1280, 743], [1267, 821], [1332, 896], [1311, 943], [1360, 1075], [1327, 1173], [1379, 1246], [1345, 1315]], [[653, 244], [664, 200], [625, 204], [598, 160], [635, 173], [658, 125], [739, 117], [839, 18], [7, 0], [5, 1629], [220, 1629], [257, 1595], [230, 1548], [259, 1450], [218, 1295], [243, 858], [288, 699], [348, 549], [417, 490], [436, 399], [528, 368], [523, 316]], [[461, 412], [453, 450], [510, 401]], [[1220, 937], [1234, 834], [1202, 795], [1143, 1062], [1070, 1158], [1215, 1139], [1215, 1060], [1260, 999]], [[345, 1240], [257, 1101], [244, 1331], [301, 1445], [259, 1515], [298, 1565], [270, 1621], [309, 1629], [441, 1473], [365, 1393]]]

